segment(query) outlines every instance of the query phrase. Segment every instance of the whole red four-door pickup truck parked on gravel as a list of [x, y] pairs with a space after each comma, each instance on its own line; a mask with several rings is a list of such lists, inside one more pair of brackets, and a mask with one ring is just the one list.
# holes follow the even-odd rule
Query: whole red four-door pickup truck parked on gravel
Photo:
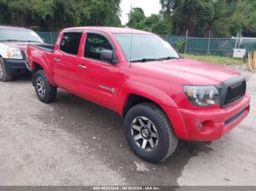
[[40, 101], [54, 101], [60, 87], [118, 112], [132, 150], [153, 163], [178, 139], [219, 139], [249, 114], [241, 74], [181, 58], [148, 32], [66, 28], [55, 47], [30, 45], [27, 55]]

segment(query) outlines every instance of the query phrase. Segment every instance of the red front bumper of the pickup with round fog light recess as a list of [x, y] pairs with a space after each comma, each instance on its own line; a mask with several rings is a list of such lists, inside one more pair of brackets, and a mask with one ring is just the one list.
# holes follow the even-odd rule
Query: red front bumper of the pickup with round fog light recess
[[249, 95], [226, 108], [219, 109], [167, 109], [173, 129], [179, 139], [213, 141], [235, 128], [249, 114]]

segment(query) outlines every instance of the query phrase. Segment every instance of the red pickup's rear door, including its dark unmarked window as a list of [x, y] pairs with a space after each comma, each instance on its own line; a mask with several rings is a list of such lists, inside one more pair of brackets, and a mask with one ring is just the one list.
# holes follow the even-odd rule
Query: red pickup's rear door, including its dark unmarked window
[[78, 93], [79, 47], [83, 31], [64, 32], [53, 53], [53, 77], [59, 87]]

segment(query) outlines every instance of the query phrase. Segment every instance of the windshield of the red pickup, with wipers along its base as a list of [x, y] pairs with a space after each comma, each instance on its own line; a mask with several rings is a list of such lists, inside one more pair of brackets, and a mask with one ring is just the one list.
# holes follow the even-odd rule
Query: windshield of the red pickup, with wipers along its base
[[[115, 34], [127, 61], [154, 61], [179, 58], [168, 42], [157, 35]], [[132, 48], [132, 51], [131, 51]]]

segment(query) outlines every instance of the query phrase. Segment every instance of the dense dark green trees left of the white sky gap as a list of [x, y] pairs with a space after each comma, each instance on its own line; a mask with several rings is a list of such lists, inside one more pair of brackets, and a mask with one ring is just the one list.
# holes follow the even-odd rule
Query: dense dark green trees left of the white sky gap
[[0, 23], [59, 30], [68, 26], [121, 26], [121, 0], [0, 0]]

